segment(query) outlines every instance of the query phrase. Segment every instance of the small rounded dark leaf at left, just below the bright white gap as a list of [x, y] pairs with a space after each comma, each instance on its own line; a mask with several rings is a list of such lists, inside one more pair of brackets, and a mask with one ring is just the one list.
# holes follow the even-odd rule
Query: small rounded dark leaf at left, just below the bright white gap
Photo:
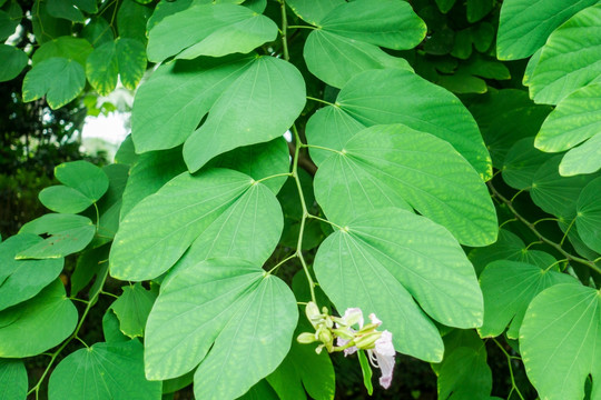
[[55, 177], [93, 202], [98, 201], [109, 187], [107, 174], [91, 162], [82, 160], [61, 163], [55, 168]]

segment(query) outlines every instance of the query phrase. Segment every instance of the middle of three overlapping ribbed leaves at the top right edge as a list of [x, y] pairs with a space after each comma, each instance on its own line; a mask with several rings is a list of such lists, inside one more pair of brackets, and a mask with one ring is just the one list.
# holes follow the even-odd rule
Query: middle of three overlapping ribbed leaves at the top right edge
[[[594, 1], [588, 1], [594, 2]], [[534, 101], [558, 104], [600, 76], [601, 4], [589, 7], [558, 28], [544, 44], [530, 80]]]

